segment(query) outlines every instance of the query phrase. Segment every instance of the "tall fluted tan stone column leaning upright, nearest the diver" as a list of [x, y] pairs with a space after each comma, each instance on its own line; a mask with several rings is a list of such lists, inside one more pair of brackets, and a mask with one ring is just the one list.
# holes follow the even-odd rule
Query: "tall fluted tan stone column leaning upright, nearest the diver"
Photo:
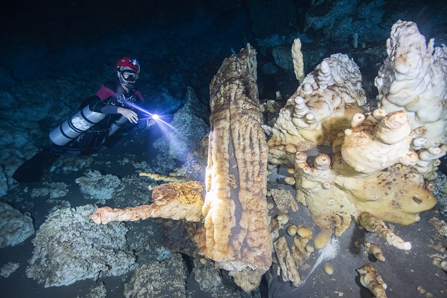
[[268, 147], [256, 78], [256, 51], [248, 45], [223, 61], [210, 84], [205, 224], [196, 243], [200, 254], [229, 271], [265, 272], [272, 263]]

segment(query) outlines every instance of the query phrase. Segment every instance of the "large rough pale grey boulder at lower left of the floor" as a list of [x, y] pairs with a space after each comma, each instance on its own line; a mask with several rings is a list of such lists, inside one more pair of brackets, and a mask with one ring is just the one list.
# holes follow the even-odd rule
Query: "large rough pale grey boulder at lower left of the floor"
[[93, 205], [59, 209], [41, 225], [33, 239], [27, 276], [45, 287], [69, 285], [77, 280], [121, 275], [133, 268], [123, 223], [89, 222]]

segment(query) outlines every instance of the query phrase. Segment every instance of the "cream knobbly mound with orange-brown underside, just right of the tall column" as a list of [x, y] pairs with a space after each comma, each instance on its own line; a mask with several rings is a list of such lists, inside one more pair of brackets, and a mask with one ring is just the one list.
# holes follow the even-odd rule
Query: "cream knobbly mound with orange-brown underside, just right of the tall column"
[[269, 161], [289, 164], [296, 151], [329, 145], [365, 102], [358, 66], [341, 54], [323, 60], [281, 110], [268, 141]]

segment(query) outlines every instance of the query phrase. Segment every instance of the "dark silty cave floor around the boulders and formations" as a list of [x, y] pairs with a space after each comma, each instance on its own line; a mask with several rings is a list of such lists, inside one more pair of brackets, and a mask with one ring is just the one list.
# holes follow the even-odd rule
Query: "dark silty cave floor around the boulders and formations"
[[[139, 177], [137, 173], [150, 171], [156, 168], [160, 158], [156, 157], [157, 149], [150, 148], [151, 138], [156, 137], [157, 131], [134, 131], [122, 132], [115, 137], [115, 141], [120, 141], [122, 146], [114, 146], [113, 140], [105, 148], [91, 156], [80, 158], [61, 157], [52, 164], [51, 171], [47, 171], [43, 180], [38, 183], [18, 184], [14, 189], [8, 191], [7, 195], [1, 199], [18, 208], [21, 212], [29, 212], [34, 219], [36, 230], [45, 222], [49, 214], [54, 210], [71, 206], [83, 206], [86, 204], [96, 204], [98, 207], [108, 205], [111, 207], [124, 207], [144, 204], [150, 198], [150, 191], [147, 186], [154, 184], [154, 181]], [[141, 147], [149, 147], [147, 152], [141, 154]], [[125, 152], [123, 154], [123, 148]], [[322, 151], [326, 148], [322, 148]], [[316, 154], [315, 154], [316, 155]], [[144, 160], [152, 160], [152, 165], [147, 165]], [[157, 161], [158, 160], [158, 161]], [[152, 167], [151, 167], [152, 166]], [[95, 199], [89, 197], [80, 190], [80, 185], [75, 183], [75, 179], [83, 176], [86, 171], [99, 171], [101, 175], [112, 174], [121, 181], [139, 181], [127, 183], [124, 190], [117, 190], [111, 199]], [[287, 176], [286, 167], [278, 167], [271, 171], [268, 176], [268, 188], [284, 188], [295, 195], [294, 188], [284, 182]], [[57, 197], [56, 191], [52, 191], [54, 183], [65, 183], [65, 191]], [[160, 182], [159, 182], [160, 183]], [[49, 193], [40, 192], [42, 187], [50, 188]], [[53, 194], [52, 194], [53, 193]], [[64, 194], [65, 193], [65, 194]], [[117, 195], [118, 194], [118, 195]], [[269, 198], [269, 201], [271, 198]], [[296, 212], [289, 209], [289, 223], [306, 225], [310, 227], [314, 234], [318, 232], [318, 227], [312, 221], [310, 213], [306, 207], [298, 203], [299, 209]], [[400, 226], [387, 223], [394, 232], [404, 239], [410, 241], [412, 248], [409, 251], [399, 250], [392, 247], [376, 236], [368, 233], [364, 229], [359, 229], [354, 223], [343, 233], [342, 236], [333, 236], [330, 244], [323, 250], [315, 250], [311, 258], [306, 261], [309, 265], [307, 269], [300, 269], [301, 278], [304, 280], [300, 287], [293, 287], [290, 282], [282, 281], [278, 276], [277, 266], [274, 264], [271, 270], [264, 276], [260, 287], [251, 293], [245, 293], [231, 284], [231, 277], [226, 272], [221, 272], [220, 279], [214, 281], [214, 287], [200, 288], [196, 281], [194, 262], [192, 257], [183, 254], [183, 261], [188, 268], [186, 278], [186, 293], [188, 297], [372, 297], [372, 293], [363, 287], [359, 281], [359, 274], [356, 269], [365, 263], [373, 263], [388, 285], [386, 290], [388, 297], [441, 297], [447, 290], [446, 272], [435, 267], [432, 257], [442, 255], [445, 252], [445, 238], [427, 220], [437, 218], [445, 221], [445, 216], [437, 211], [438, 205], [433, 209], [422, 212], [420, 221], [409, 226]], [[92, 210], [93, 211], [93, 210]], [[270, 210], [273, 217], [280, 211], [274, 207]], [[86, 220], [89, 220], [86, 217]], [[89, 220], [91, 221], [91, 220]], [[125, 222], [129, 232], [126, 235], [127, 245], [133, 247], [138, 254], [137, 262], [142, 265], [159, 258], [159, 251], [163, 246], [162, 236], [159, 232], [155, 219], [147, 219], [137, 222]], [[287, 224], [288, 225], [288, 224]], [[286, 225], [286, 227], [287, 227]], [[145, 235], [146, 234], [146, 235]], [[286, 236], [291, 245], [293, 237], [286, 233], [285, 228], [280, 230], [280, 236]], [[133, 270], [120, 276], [105, 276], [99, 278], [88, 278], [76, 281], [71, 285], [44, 287], [35, 279], [28, 278], [26, 268], [28, 260], [32, 257], [33, 243], [35, 235], [26, 239], [16, 246], [8, 246], [0, 249], [0, 264], [3, 266], [8, 262], [20, 263], [19, 268], [12, 272], [7, 278], [0, 277], [0, 293], [4, 297], [86, 297], [95, 296], [95, 287], [101, 284], [103, 291], [105, 288], [106, 297], [122, 297], [124, 284], [129, 281]], [[145, 238], [144, 241], [141, 238]], [[378, 243], [386, 258], [385, 261], [377, 261], [374, 256], [368, 255], [363, 249], [363, 241]], [[135, 244], [136, 243], [136, 244]], [[309, 244], [313, 244], [312, 240]], [[141, 245], [146, 245], [141, 248]], [[323, 270], [323, 265], [329, 262], [334, 273], [328, 275]], [[173, 277], [174, 278], [174, 277]], [[200, 278], [199, 278], [200, 279]], [[169, 283], [170, 280], [164, 280]], [[219, 283], [220, 282], [220, 283]], [[222, 285], [225, 284], [225, 285]], [[228, 286], [228, 289], [222, 288]], [[92, 290], [93, 288], [93, 290]], [[216, 288], [220, 288], [217, 290]], [[223, 294], [225, 293], [225, 294]], [[159, 296], [175, 296], [169, 290], [162, 292]]]

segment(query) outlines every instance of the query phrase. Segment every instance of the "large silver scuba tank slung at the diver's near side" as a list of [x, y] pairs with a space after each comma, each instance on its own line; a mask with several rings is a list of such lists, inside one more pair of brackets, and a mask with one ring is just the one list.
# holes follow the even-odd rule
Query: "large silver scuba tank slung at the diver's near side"
[[[77, 138], [80, 134], [87, 131], [105, 117], [106, 114], [90, 111], [89, 106], [87, 105], [78, 113], [68, 118], [67, 121], [63, 122], [60, 126], [53, 129], [49, 135], [50, 140], [56, 145], [63, 146]], [[119, 119], [117, 121], [119, 121]]]

